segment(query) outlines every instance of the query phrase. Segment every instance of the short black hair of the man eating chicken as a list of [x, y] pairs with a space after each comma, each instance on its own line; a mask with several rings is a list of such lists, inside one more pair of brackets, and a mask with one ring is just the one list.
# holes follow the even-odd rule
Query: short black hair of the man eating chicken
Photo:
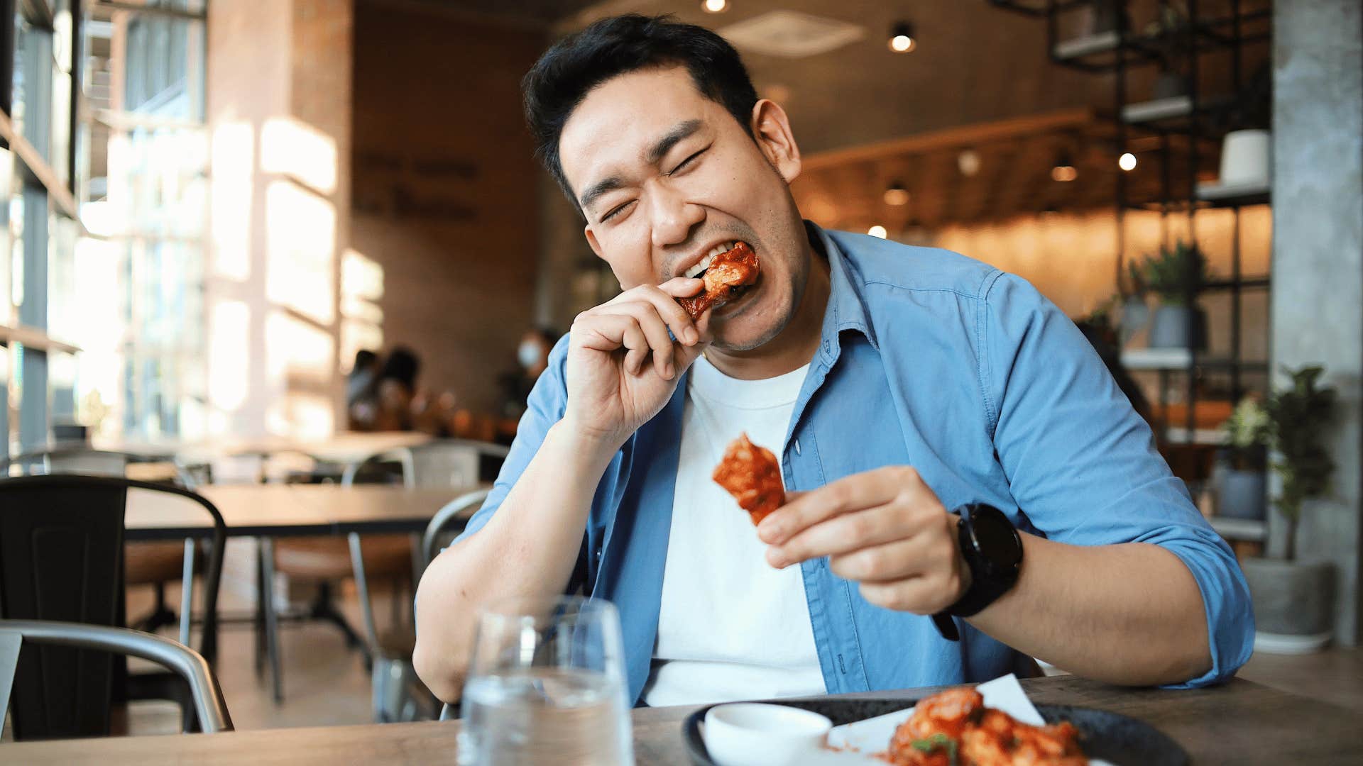
[[671, 15], [627, 14], [594, 22], [545, 50], [521, 80], [536, 157], [574, 206], [578, 200], [559, 161], [559, 135], [572, 110], [592, 89], [617, 75], [669, 65], [686, 67], [696, 90], [752, 135], [758, 93], [739, 52], [718, 34]]

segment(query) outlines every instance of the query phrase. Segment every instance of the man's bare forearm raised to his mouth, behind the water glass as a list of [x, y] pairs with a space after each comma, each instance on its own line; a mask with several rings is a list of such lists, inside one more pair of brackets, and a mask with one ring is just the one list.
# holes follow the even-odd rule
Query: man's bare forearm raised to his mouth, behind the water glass
[[555, 424], [487, 526], [427, 568], [417, 589], [413, 662], [436, 696], [458, 698], [480, 605], [556, 596], [567, 586], [592, 496], [613, 454]]

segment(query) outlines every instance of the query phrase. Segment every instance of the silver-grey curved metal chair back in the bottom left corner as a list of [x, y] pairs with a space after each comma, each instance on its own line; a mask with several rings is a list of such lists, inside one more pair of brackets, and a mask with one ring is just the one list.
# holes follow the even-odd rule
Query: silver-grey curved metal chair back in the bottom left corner
[[[19, 635], [20, 656], [35, 656], [30, 665], [41, 667], [44, 673], [71, 653], [76, 653], [78, 657], [113, 653], [157, 662], [174, 672], [189, 688], [192, 718], [187, 717], [187, 724], [192, 721], [194, 725], [184, 726], [187, 733], [195, 728], [204, 733], [232, 731], [228, 703], [222, 699], [222, 688], [213, 675], [213, 668], [203, 656], [183, 643], [128, 628], [50, 620], [0, 620], [0, 637], [4, 635]], [[22, 662], [18, 665], [22, 667]], [[5, 688], [5, 681], [15, 679], [15, 671], [16, 667], [0, 665], [0, 688]], [[19, 680], [14, 687], [16, 699], [40, 701], [33, 714], [41, 720], [26, 721], [29, 729], [55, 732], [68, 726], [71, 721], [87, 720], [89, 709], [80, 701], [60, 696], [45, 683], [37, 683], [35, 688], [30, 688], [35, 680], [45, 679], [46, 675], [40, 679], [15, 679]], [[4, 717], [4, 702], [0, 699], [0, 718]], [[15, 713], [15, 739], [27, 739], [20, 733], [18, 707]]]

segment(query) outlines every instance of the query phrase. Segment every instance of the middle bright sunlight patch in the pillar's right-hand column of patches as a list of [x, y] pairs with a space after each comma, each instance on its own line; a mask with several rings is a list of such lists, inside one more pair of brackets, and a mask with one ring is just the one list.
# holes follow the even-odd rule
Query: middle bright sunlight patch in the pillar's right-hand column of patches
[[289, 180], [266, 187], [266, 296], [319, 324], [335, 320], [335, 209]]

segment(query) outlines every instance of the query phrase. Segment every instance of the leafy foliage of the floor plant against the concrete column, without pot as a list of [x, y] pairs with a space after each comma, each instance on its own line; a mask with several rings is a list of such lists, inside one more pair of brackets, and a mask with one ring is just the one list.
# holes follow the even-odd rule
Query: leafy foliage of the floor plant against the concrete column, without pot
[[1270, 444], [1276, 453], [1273, 470], [1281, 477], [1283, 488], [1273, 499], [1273, 507], [1287, 519], [1285, 557], [1296, 559], [1296, 526], [1302, 519], [1302, 503], [1319, 497], [1330, 488], [1334, 458], [1325, 446], [1325, 432], [1334, 413], [1336, 390], [1317, 384], [1325, 368], [1284, 368], [1292, 378], [1292, 387], [1273, 394], [1268, 403], [1272, 421]]

